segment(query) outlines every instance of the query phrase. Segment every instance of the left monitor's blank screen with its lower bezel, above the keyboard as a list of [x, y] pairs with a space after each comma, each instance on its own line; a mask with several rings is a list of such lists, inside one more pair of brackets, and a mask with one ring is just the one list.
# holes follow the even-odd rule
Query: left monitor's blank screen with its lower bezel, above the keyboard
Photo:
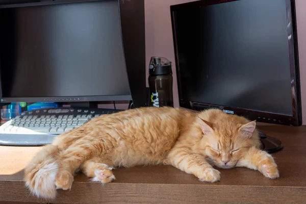
[[118, 6], [0, 9], [2, 99], [130, 100]]

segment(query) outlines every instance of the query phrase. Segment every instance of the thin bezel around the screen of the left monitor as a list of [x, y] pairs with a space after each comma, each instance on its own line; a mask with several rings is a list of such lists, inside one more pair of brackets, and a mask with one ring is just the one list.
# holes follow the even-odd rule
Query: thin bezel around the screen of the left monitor
[[[0, 0], [0, 12], [1, 9], [6, 8], [22, 8], [22, 7], [32, 7], [32, 6], [47, 6], [47, 5], [58, 5], [58, 4], [72, 4], [72, 3], [87, 3], [87, 2], [104, 2], [105, 0], [58, 0], [58, 1], [36, 1], [36, 0], [25, 0], [22, 3], [6, 3], [2, 4]], [[115, 0], [117, 1], [117, 0]], [[122, 49], [124, 55], [124, 62], [125, 62], [125, 71], [127, 73], [127, 66], [126, 66], [126, 54], [123, 45], [123, 37], [122, 37], [122, 20], [121, 20], [121, 7], [120, 1], [118, 1], [118, 15], [119, 15], [119, 22], [121, 27], [121, 41], [122, 41]], [[0, 59], [1, 61], [1, 59]], [[0, 76], [1, 76], [1, 64], [0, 64]], [[129, 80], [129, 84], [131, 84]], [[131, 85], [130, 85], [131, 86]], [[83, 96], [44, 96], [44, 97], [3, 97], [2, 96], [2, 85], [1, 85], [1, 77], [0, 77], [0, 102], [1, 103], [12, 103], [12, 102], [88, 102], [88, 101], [130, 101], [133, 100], [131, 87], [130, 87], [130, 94], [128, 95], [83, 95]]]

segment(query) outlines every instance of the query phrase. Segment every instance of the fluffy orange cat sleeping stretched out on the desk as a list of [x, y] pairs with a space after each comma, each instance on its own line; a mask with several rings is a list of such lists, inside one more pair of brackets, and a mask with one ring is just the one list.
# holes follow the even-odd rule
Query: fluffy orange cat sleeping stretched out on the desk
[[24, 171], [37, 197], [55, 198], [71, 188], [81, 170], [92, 181], [115, 179], [113, 167], [168, 164], [217, 182], [213, 168], [247, 167], [279, 176], [273, 158], [260, 150], [256, 122], [217, 109], [191, 112], [180, 108], [139, 108], [94, 118], [43, 147]]

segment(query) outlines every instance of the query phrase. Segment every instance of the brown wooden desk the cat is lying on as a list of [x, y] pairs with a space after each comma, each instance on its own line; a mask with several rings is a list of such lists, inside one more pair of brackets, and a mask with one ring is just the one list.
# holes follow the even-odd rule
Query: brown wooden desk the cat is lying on
[[[269, 180], [260, 172], [221, 169], [221, 181], [199, 182], [171, 166], [120, 168], [107, 185], [90, 182], [80, 174], [71, 191], [58, 190], [60, 203], [306, 203], [306, 126], [261, 126], [282, 140], [284, 149], [273, 154], [280, 178]], [[0, 146], [0, 201], [41, 202], [29, 195], [22, 182], [23, 168], [40, 147]]]

